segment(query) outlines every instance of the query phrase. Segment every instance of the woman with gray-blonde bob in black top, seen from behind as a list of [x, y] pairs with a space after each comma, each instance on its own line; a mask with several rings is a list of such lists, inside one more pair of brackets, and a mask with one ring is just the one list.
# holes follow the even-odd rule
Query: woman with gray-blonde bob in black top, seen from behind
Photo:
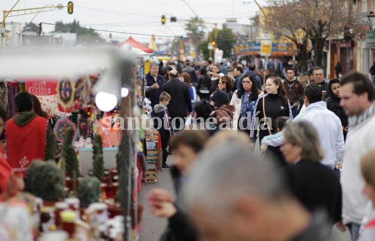
[[334, 171], [322, 165], [324, 154], [318, 133], [306, 121], [289, 122], [280, 148], [286, 162], [290, 190], [310, 212], [326, 211], [332, 224], [341, 220], [341, 185]]

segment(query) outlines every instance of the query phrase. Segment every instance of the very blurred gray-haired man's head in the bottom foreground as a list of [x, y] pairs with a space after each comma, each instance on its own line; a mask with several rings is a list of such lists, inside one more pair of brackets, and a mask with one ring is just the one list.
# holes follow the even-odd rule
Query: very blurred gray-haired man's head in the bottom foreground
[[199, 161], [183, 197], [201, 240], [333, 240], [325, 214], [310, 214], [289, 194], [272, 162], [245, 145], [222, 144]]

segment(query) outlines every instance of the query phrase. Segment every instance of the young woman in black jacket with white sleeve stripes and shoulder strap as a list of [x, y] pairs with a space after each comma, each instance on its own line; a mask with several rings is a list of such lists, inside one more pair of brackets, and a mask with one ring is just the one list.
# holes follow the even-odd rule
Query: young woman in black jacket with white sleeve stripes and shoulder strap
[[293, 119], [288, 96], [286, 95], [280, 79], [277, 77], [269, 77], [266, 80], [266, 91], [267, 94], [260, 97], [255, 104], [250, 130], [250, 138], [253, 143], [255, 143], [258, 129], [259, 143], [262, 141], [263, 137], [276, 133], [277, 117], [289, 116], [290, 119]]

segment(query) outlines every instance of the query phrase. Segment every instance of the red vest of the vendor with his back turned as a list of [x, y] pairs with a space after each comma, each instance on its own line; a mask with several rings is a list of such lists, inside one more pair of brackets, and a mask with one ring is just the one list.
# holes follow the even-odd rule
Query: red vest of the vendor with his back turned
[[6, 155], [14, 174], [25, 177], [33, 160], [44, 160], [47, 124], [48, 120], [40, 116], [24, 126], [17, 126], [13, 118], [6, 122]]

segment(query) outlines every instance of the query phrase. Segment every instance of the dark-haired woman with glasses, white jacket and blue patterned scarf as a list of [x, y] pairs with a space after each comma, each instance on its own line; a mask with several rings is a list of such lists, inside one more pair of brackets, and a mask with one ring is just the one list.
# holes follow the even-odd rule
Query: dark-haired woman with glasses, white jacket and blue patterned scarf
[[[240, 81], [240, 80], [239, 80]], [[258, 90], [255, 77], [245, 73], [242, 84], [234, 91], [230, 105], [234, 105], [233, 130], [241, 130], [250, 134], [251, 117], [255, 110], [255, 104], [264, 94]]]

